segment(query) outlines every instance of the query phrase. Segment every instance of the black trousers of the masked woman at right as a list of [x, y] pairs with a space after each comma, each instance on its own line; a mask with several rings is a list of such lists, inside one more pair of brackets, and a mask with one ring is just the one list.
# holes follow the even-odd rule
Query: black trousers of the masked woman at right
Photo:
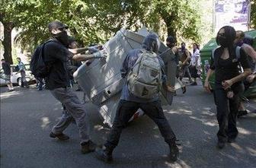
[[216, 101], [217, 119], [219, 123], [219, 132], [217, 137], [219, 141], [227, 141], [227, 138], [235, 139], [238, 135], [236, 128], [236, 117], [238, 114], [238, 106], [240, 104], [240, 91], [243, 90], [241, 85], [232, 88], [235, 96], [232, 99], [226, 97], [226, 90], [221, 86], [217, 86], [214, 90], [214, 98]]

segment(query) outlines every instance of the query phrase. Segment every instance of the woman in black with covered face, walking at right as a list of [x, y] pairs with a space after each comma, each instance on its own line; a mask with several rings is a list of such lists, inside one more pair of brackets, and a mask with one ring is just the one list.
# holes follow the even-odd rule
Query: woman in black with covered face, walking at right
[[[239, 94], [243, 90], [242, 80], [251, 74], [245, 51], [237, 49], [234, 46], [234, 40], [235, 29], [233, 27], [225, 26], [219, 30], [216, 43], [220, 47], [211, 56], [210, 70], [207, 72], [204, 84], [205, 89], [210, 92], [208, 79], [215, 71], [214, 98], [219, 123], [217, 147], [220, 149], [225, 146], [226, 142], [235, 141], [238, 135], [236, 116], [240, 101]], [[244, 72], [241, 72], [240, 64]]]

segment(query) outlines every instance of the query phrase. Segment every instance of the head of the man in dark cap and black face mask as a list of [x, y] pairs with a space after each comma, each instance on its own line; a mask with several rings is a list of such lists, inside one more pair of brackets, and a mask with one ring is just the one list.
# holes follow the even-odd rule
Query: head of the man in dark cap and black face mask
[[59, 40], [64, 46], [69, 46], [69, 36], [66, 32], [66, 29], [69, 27], [65, 24], [62, 24], [60, 21], [53, 21], [48, 24], [48, 30], [50, 31], [53, 38]]

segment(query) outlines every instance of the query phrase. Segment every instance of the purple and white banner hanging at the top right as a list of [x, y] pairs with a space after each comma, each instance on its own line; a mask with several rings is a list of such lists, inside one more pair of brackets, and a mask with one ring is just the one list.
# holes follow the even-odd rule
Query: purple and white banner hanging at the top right
[[249, 0], [216, 0], [215, 33], [226, 25], [234, 27], [235, 30], [248, 30], [249, 8]]

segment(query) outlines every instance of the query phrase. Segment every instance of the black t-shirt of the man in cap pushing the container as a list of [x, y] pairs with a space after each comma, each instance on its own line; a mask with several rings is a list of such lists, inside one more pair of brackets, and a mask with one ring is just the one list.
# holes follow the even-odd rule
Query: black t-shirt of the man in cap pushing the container
[[67, 62], [72, 58], [72, 53], [69, 52], [62, 43], [54, 40], [46, 43], [43, 49], [44, 61], [50, 64], [50, 74], [46, 78], [46, 88], [54, 90], [59, 87], [69, 86], [69, 71]]

